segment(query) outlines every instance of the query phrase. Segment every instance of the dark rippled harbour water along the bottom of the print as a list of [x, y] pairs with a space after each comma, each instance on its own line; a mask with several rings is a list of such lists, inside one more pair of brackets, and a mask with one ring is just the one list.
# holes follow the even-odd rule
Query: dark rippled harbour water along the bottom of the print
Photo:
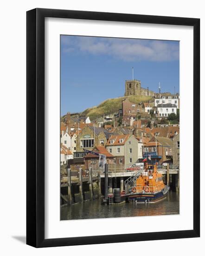
[[169, 191], [167, 197], [155, 203], [123, 203], [102, 205], [98, 200], [76, 203], [61, 208], [61, 220], [159, 216], [179, 214], [179, 193]]

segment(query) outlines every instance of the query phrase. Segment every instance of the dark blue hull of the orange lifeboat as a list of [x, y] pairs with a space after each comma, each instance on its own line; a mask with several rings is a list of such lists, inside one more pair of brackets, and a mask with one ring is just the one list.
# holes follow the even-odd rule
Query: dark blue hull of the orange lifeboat
[[128, 195], [128, 201], [131, 202], [157, 202], [165, 198], [168, 194], [169, 187], [166, 186], [165, 189], [162, 189], [156, 193], [133, 193]]

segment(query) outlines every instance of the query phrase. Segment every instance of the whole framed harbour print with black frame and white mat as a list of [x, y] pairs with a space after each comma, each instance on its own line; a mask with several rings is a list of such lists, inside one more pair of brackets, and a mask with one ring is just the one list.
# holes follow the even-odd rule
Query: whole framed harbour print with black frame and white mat
[[27, 244], [199, 237], [199, 24], [27, 12]]

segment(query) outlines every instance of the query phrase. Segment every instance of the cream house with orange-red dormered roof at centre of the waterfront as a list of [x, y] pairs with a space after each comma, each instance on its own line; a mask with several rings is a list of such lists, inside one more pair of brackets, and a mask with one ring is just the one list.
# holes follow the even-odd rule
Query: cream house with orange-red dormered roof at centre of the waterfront
[[122, 164], [128, 168], [139, 158], [138, 143], [134, 135], [112, 135], [106, 144], [106, 149], [115, 156], [115, 164]]

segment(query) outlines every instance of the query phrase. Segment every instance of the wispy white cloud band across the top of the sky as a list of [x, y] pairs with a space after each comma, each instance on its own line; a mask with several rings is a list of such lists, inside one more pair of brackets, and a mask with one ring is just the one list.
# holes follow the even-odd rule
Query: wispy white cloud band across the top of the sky
[[179, 60], [179, 43], [161, 40], [134, 40], [64, 36], [64, 52], [106, 54], [123, 61]]

